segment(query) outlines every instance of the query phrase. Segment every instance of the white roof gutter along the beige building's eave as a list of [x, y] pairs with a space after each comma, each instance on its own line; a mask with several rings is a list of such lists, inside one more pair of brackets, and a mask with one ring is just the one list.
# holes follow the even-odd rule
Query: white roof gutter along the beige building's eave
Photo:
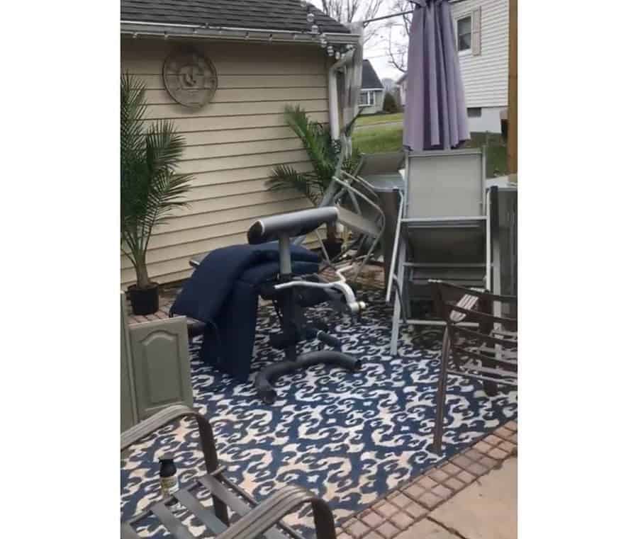
[[[234, 28], [228, 26], [211, 26], [196, 24], [164, 24], [140, 21], [121, 21], [120, 33], [133, 38], [203, 38], [249, 40], [264, 42], [297, 42], [319, 44], [319, 36], [308, 32], [294, 32], [292, 30], [269, 30], [257, 28]], [[359, 35], [352, 33], [325, 32], [325, 38], [333, 45], [356, 45]]]

